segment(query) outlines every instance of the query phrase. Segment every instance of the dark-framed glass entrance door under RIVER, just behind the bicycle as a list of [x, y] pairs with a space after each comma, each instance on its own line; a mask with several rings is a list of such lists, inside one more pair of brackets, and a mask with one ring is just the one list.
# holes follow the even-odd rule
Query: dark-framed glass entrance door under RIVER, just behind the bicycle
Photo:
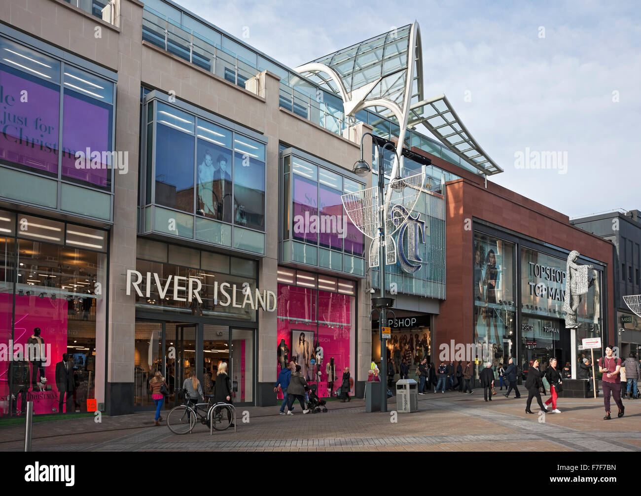
[[185, 379], [196, 370], [196, 329], [198, 324], [165, 322], [165, 380], [169, 397], [165, 408], [178, 404], [176, 390], [183, 387]]

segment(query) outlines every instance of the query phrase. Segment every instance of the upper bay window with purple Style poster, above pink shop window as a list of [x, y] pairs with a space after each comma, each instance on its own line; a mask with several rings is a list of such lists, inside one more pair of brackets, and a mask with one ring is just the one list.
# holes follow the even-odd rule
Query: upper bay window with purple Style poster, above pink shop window
[[365, 239], [341, 196], [365, 186], [298, 156], [283, 158], [283, 261], [364, 274]]

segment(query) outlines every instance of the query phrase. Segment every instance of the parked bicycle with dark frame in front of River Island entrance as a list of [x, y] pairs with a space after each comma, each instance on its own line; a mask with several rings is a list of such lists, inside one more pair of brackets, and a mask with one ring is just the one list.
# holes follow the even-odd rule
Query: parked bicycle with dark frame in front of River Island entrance
[[[187, 398], [185, 390], [180, 390], [179, 394]], [[205, 397], [209, 398], [206, 403], [194, 403], [187, 399], [185, 404], [172, 408], [167, 415], [169, 430], [174, 434], [189, 434], [196, 427], [197, 421], [203, 426], [210, 426], [210, 431], [212, 427], [217, 431], [224, 431], [231, 426], [231, 420], [226, 417], [226, 411], [224, 411], [228, 405], [225, 403], [213, 404], [213, 395], [205, 395]]]

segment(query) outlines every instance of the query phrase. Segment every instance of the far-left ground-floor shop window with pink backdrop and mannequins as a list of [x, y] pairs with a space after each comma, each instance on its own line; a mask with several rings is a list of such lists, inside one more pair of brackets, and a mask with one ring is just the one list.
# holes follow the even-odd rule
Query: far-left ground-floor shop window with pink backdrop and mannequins
[[107, 233], [4, 211], [0, 226], [0, 416], [86, 412], [104, 394]]

